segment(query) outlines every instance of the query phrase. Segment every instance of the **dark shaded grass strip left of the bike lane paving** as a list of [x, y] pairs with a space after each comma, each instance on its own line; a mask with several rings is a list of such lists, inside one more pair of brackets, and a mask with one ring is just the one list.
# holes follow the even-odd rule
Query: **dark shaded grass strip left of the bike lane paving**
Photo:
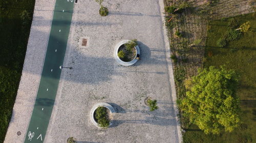
[[[34, 4], [35, 0], [0, 1], [0, 142], [4, 142], [12, 116]], [[24, 10], [28, 16], [22, 20]]]

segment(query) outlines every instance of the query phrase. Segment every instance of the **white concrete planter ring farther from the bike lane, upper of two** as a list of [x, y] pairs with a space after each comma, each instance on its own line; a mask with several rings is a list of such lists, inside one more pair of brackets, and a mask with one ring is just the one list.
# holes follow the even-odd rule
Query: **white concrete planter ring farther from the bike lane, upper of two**
[[[119, 63], [119, 64], [121, 64], [123, 66], [131, 66], [131, 65], [135, 64], [138, 61], [136, 59], [136, 56], [135, 56], [135, 58], [132, 61], [124, 62], [117, 55], [118, 54], [118, 49], [120, 48], [120, 46], [125, 44], [125, 43], [127, 43], [127, 42], [129, 42], [129, 41], [131, 41], [131, 40], [123, 40], [123, 41], [117, 43], [116, 46], [115, 46], [115, 50], [114, 50], [114, 56], [115, 56], [115, 59], [116, 59], [117, 63]], [[140, 48], [139, 48], [138, 45], [135, 46], [135, 49], [136, 49], [136, 55], [140, 54]]]

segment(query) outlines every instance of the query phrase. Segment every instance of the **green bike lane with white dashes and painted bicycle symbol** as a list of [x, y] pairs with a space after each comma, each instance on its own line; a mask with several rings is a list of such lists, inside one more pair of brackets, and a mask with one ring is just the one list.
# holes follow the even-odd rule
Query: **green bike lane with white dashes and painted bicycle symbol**
[[44, 142], [65, 57], [74, 1], [56, 0], [39, 88], [25, 143]]

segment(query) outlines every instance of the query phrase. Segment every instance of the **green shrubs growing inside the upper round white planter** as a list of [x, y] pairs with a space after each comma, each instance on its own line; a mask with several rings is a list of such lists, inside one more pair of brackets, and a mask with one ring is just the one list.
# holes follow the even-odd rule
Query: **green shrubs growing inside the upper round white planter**
[[122, 44], [118, 49], [118, 57], [123, 62], [131, 62], [136, 58], [136, 39]]

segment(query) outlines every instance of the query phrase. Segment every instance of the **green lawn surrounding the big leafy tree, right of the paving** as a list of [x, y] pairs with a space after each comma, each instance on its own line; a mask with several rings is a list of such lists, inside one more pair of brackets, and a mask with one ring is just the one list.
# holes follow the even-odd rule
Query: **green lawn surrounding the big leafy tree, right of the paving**
[[223, 48], [218, 47], [216, 42], [228, 30], [231, 19], [209, 22], [204, 67], [226, 65], [226, 68], [240, 73], [237, 94], [241, 100], [242, 124], [233, 132], [222, 132], [220, 135], [206, 135], [197, 126], [191, 125], [183, 135], [184, 142], [256, 142], [256, 14], [233, 17], [238, 23], [236, 28], [250, 21], [250, 31], [243, 33], [239, 40], [230, 41]]

